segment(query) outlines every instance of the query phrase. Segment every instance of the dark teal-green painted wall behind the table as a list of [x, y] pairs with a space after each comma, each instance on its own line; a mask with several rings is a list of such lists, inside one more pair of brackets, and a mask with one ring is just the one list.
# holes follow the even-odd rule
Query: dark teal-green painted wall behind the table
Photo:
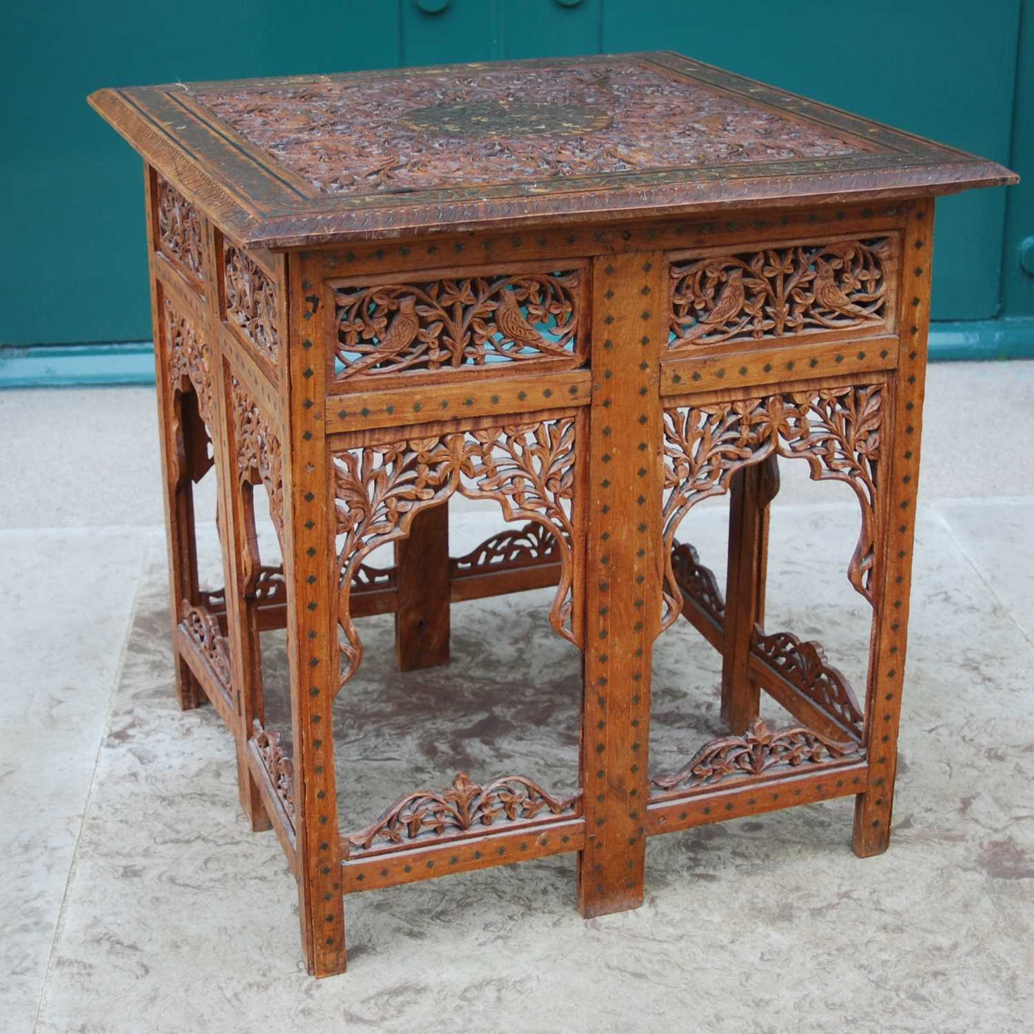
[[150, 337], [140, 161], [91, 90], [657, 49], [1028, 173], [1011, 193], [940, 203], [935, 317], [1034, 317], [1018, 263], [1034, 236], [1034, 0], [102, 0], [19, 5], [4, 25], [0, 343]]

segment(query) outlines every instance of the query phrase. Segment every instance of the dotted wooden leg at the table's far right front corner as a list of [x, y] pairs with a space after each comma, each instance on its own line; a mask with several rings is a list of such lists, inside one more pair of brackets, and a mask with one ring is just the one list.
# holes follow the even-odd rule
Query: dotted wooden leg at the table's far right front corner
[[905, 231], [909, 262], [902, 271], [898, 307], [902, 343], [892, 379], [890, 433], [882, 443], [879, 460], [882, 527], [875, 557], [879, 583], [865, 701], [869, 790], [855, 798], [854, 810], [853, 846], [860, 857], [880, 854], [890, 843], [919, 481], [933, 232], [933, 202], [916, 202]]

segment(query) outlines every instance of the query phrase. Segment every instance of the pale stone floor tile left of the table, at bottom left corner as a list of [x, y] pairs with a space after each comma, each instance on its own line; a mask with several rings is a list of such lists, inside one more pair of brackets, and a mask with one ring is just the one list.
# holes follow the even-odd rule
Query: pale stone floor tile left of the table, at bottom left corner
[[39, 1006], [153, 538], [135, 528], [0, 531], [0, 1027], [11, 1034], [31, 1031]]

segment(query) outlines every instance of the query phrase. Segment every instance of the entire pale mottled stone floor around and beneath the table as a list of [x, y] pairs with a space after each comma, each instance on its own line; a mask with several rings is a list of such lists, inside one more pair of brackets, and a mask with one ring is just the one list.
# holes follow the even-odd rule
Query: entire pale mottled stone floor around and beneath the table
[[[854, 857], [840, 800], [657, 838], [643, 907], [601, 919], [577, 914], [571, 856], [361, 894], [349, 971], [317, 982], [229, 735], [211, 707], [176, 707], [153, 394], [0, 393], [0, 1030], [1031, 1030], [1034, 453], [993, 452], [972, 418], [1025, 428], [1032, 410], [1034, 363], [931, 370], [886, 854]], [[820, 638], [857, 686], [857, 511], [798, 466], [773, 511], [768, 624]], [[453, 517], [457, 543], [495, 528]], [[721, 504], [690, 521], [724, 570]], [[453, 662], [431, 672], [395, 672], [390, 619], [363, 626], [336, 714], [343, 821], [463, 768], [571, 785], [577, 657], [547, 598], [458, 605]], [[282, 694], [275, 635], [269, 673]], [[712, 734], [717, 677], [685, 624], [659, 640], [658, 764]]]

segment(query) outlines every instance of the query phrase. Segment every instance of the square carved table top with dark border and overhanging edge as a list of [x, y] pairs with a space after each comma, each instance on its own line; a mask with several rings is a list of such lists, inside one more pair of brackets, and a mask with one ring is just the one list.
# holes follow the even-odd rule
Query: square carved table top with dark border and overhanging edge
[[993, 161], [668, 52], [100, 90], [241, 244], [948, 193]]

